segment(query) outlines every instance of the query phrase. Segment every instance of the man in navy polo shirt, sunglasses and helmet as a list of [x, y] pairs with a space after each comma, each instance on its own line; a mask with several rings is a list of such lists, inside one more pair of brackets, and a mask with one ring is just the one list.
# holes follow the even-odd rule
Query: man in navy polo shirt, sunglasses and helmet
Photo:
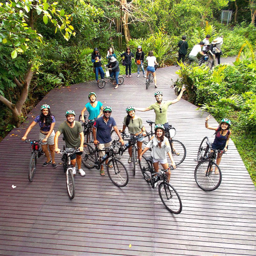
[[[110, 117], [112, 113], [111, 106], [104, 106], [103, 108], [103, 117], [100, 117], [95, 120], [93, 125], [93, 137], [94, 137], [94, 144], [98, 144], [98, 149], [103, 150], [104, 147], [111, 146], [111, 130], [112, 127], [115, 130], [116, 134], [120, 138], [120, 142], [123, 145], [123, 139], [119, 133], [119, 130], [116, 126], [115, 119], [113, 117]], [[97, 130], [97, 134], [96, 134]], [[105, 155], [104, 151], [99, 152], [99, 157], [101, 160], [101, 157]], [[105, 162], [108, 164], [108, 159]], [[110, 168], [113, 168], [113, 166], [109, 166]], [[100, 166], [100, 175], [105, 176], [104, 167], [103, 165]]]

